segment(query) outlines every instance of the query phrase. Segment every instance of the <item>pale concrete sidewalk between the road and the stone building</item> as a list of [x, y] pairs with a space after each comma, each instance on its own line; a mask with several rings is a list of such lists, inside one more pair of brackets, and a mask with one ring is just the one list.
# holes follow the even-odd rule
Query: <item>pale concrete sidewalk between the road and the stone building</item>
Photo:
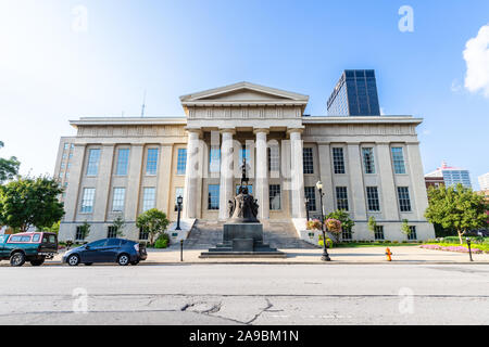
[[[423, 249], [416, 246], [391, 247], [392, 261], [386, 259], [385, 247], [333, 248], [328, 249], [333, 261], [327, 264], [471, 264], [468, 254]], [[321, 260], [322, 249], [281, 249], [287, 258], [217, 258], [201, 259], [199, 255], [206, 249], [184, 249], [180, 262], [179, 249], [149, 249], [148, 259], [140, 265], [156, 264], [325, 264]], [[64, 252], [63, 252], [64, 253]], [[63, 253], [46, 265], [60, 265]], [[474, 262], [489, 264], [489, 254], [473, 254]], [[2, 261], [2, 265], [8, 265]]]

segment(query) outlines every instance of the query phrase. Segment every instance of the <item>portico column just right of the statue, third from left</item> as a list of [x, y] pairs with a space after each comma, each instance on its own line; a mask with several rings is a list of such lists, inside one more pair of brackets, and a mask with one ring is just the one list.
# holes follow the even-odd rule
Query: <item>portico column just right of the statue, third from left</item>
[[268, 158], [267, 158], [267, 146], [266, 146], [266, 136], [268, 134], [268, 129], [255, 129], [256, 134], [256, 176], [254, 179], [255, 187], [255, 198], [258, 200], [259, 207], [259, 219], [269, 218], [269, 198], [268, 198]]

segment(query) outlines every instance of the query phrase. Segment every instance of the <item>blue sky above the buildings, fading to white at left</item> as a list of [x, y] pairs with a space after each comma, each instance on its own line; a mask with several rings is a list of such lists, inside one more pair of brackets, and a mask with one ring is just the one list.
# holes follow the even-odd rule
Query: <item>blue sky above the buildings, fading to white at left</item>
[[[401, 5], [412, 33], [399, 30]], [[425, 172], [446, 159], [477, 188], [489, 171], [486, 25], [487, 0], [0, 0], [0, 156], [52, 172], [68, 119], [139, 115], [145, 89], [149, 116], [183, 115], [179, 95], [242, 80], [308, 94], [308, 113], [324, 115], [342, 69], [374, 68], [384, 113], [425, 119]], [[475, 37], [481, 54], [464, 60]]]

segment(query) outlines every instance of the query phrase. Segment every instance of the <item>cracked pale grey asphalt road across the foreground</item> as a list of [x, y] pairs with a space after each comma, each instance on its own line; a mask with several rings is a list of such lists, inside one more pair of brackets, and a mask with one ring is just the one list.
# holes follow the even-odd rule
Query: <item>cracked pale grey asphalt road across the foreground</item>
[[488, 324], [489, 265], [0, 268], [0, 324]]

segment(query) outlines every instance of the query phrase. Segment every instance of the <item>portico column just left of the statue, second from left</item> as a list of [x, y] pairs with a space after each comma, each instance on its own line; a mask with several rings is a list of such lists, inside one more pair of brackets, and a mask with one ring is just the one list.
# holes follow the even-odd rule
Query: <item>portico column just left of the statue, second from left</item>
[[229, 218], [228, 201], [233, 200], [234, 166], [233, 166], [233, 134], [235, 129], [223, 129], [223, 143], [221, 145], [221, 182], [220, 182], [220, 219]]

